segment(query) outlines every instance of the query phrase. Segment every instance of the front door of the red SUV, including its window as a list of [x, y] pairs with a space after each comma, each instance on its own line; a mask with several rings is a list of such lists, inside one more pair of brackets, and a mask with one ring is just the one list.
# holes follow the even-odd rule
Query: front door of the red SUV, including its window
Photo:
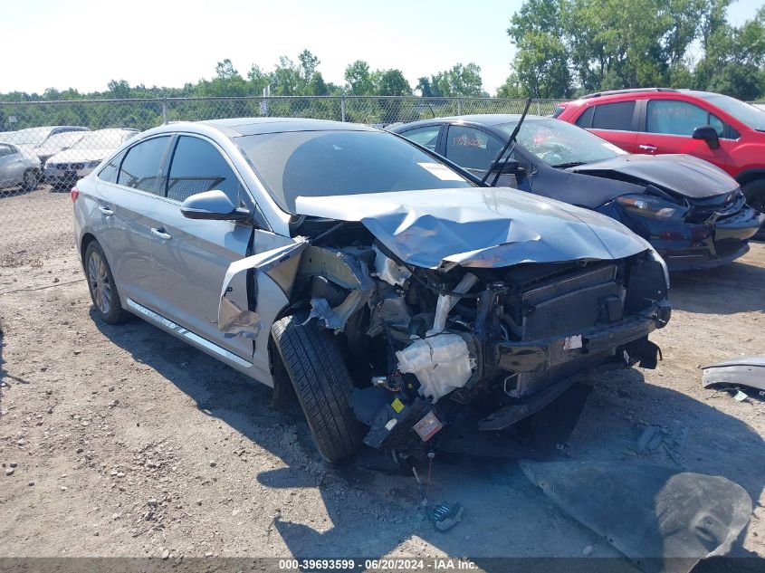
[[[641, 153], [687, 153], [705, 159], [726, 171], [732, 170], [731, 151], [735, 142], [731, 128], [711, 111], [690, 101], [665, 98], [645, 100], [642, 130], [637, 134]], [[705, 125], [717, 129], [720, 148], [712, 149], [702, 139], [693, 139], [693, 130]]]

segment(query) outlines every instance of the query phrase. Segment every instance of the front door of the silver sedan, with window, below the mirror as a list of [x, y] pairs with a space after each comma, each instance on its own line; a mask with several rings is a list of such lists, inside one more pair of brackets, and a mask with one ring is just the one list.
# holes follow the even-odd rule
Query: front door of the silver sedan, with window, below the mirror
[[[224, 337], [217, 327], [225, 273], [248, 254], [253, 225], [231, 221], [187, 219], [180, 212], [192, 195], [218, 189], [234, 205], [243, 203], [244, 186], [215, 142], [182, 134], [174, 140], [165, 196], [158, 201], [158, 227], [152, 257], [162, 306], [158, 312], [204, 339], [253, 360], [253, 340]], [[237, 285], [246, 290], [244, 280]]]

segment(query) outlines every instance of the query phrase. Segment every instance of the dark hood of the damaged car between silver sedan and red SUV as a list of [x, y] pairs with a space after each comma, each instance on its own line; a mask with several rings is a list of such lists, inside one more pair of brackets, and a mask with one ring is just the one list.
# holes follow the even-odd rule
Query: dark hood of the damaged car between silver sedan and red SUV
[[571, 167], [569, 171], [585, 175], [602, 175], [608, 172], [636, 177], [657, 187], [663, 187], [678, 195], [702, 199], [738, 188], [736, 180], [719, 167], [690, 155], [620, 155], [613, 159]]

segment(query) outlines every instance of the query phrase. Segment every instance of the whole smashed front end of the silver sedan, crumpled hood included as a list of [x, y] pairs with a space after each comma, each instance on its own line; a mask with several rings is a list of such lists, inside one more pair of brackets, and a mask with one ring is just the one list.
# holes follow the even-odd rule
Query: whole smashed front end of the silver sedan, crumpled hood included
[[298, 206], [296, 243], [250, 266], [286, 261], [284, 311], [336, 335], [369, 446], [426, 454], [458, 420], [502, 430], [592, 368], [656, 366], [666, 266], [612, 219], [510, 189]]

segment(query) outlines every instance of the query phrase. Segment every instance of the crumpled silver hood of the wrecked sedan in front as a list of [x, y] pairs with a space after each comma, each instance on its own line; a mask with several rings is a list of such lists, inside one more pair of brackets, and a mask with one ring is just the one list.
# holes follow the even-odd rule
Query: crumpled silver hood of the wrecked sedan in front
[[605, 215], [509, 187], [300, 196], [301, 215], [359, 221], [405, 263], [503, 267], [620, 259], [650, 249]]

